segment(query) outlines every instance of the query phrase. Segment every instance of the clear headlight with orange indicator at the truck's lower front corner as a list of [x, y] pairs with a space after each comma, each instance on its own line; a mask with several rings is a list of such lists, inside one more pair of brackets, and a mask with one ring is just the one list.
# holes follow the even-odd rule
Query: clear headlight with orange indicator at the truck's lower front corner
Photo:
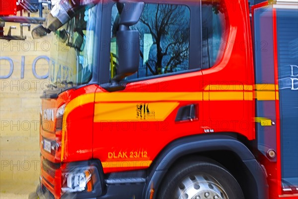
[[77, 170], [65, 174], [65, 184], [61, 188], [63, 193], [92, 191], [91, 172], [88, 170]]

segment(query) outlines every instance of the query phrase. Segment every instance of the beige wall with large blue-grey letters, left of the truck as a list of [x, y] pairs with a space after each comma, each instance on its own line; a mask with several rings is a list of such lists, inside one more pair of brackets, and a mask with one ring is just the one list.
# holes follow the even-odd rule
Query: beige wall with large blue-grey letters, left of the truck
[[[6, 23], [5, 33], [9, 25], [17, 27], [12, 35], [19, 35], [18, 23]], [[47, 76], [49, 66], [44, 58], [35, 64], [34, 60], [48, 57], [55, 45], [50, 37], [33, 41], [26, 27], [24, 34], [25, 41], [0, 39], [1, 192], [7, 192], [9, 183], [36, 185], [39, 181], [39, 97], [47, 89], [48, 79], [41, 76]]]

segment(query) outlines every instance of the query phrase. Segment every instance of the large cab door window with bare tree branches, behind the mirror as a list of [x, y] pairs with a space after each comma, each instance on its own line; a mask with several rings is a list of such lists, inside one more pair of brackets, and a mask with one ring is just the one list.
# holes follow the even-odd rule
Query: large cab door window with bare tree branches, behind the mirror
[[[112, 8], [111, 74], [117, 70], [116, 32], [119, 12]], [[186, 5], [145, 4], [140, 21], [139, 71], [128, 80], [189, 70], [190, 10]]]

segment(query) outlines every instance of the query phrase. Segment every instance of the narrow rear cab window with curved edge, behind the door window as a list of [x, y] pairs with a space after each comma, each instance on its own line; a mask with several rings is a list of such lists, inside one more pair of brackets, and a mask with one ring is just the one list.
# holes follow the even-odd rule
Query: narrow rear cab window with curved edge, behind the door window
[[217, 64], [224, 52], [224, 13], [221, 2], [202, 1], [202, 69]]

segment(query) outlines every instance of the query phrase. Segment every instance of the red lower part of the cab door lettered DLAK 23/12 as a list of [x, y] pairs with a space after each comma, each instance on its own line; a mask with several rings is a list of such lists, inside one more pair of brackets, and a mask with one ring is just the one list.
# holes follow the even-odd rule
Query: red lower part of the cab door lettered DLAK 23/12
[[[142, 93], [152, 93], [152, 95], [158, 94], [158, 92], [164, 93], [164, 96], [160, 96], [159, 102], [172, 102], [173, 99], [167, 98], [167, 93], [175, 92], [189, 92], [193, 93], [195, 98], [202, 99], [202, 72], [189, 73], [184, 75], [177, 75], [167, 78], [160, 78], [149, 80], [146, 82], [138, 82], [128, 85], [127, 89], [123, 93], [133, 93], [136, 98], [126, 100], [125, 103], [133, 103], [132, 107], [135, 111], [136, 105], [140, 103], [154, 103], [152, 100], [137, 100], [138, 95]], [[198, 83], [196, 87], [193, 85]], [[98, 89], [97, 93], [103, 92]], [[176, 101], [176, 100], [174, 100]], [[122, 103], [121, 99], [117, 99], [114, 103]], [[100, 103], [100, 102], [99, 102]], [[175, 122], [177, 111], [180, 107], [197, 104], [198, 119], [186, 122]], [[135, 170], [139, 168], [147, 168], [150, 163], [147, 161], [153, 161], [154, 158], [160, 153], [163, 147], [165, 147], [171, 141], [188, 135], [203, 133], [202, 121], [204, 121], [204, 115], [202, 114], [203, 101], [183, 100], [179, 101], [179, 105], [167, 115], [163, 121], [110, 121], [102, 117], [101, 122], [94, 122], [94, 139], [93, 139], [93, 158], [100, 159], [103, 162], [103, 168], [105, 173], [125, 170]], [[162, 111], [162, 110], [156, 110]], [[124, 112], [123, 112], [124, 113]], [[136, 112], [133, 113], [134, 116]], [[120, 157], [119, 153], [126, 153], [127, 157]], [[142, 157], [139, 153], [146, 152], [147, 155]], [[109, 153], [116, 154], [117, 158], [109, 157]], [[138, 158], [130, 157], [131, 153], [138, 153]], [[123, 155], [123, 154], [122, 154]], [[118, 158], [119, 156], [119, 158]], [[134, 162], [140, 161], [140, 162]]]

